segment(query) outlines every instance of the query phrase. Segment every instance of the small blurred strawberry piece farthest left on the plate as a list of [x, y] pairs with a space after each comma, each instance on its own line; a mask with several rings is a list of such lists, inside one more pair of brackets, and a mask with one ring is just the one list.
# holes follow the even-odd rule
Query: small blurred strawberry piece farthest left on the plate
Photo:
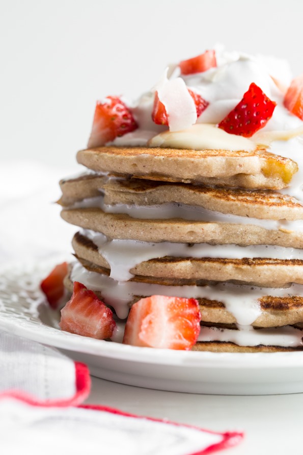
[[67, 262], [58, 264], [50, 274], [41, 281], [40, 287], [46, 295], [49, 305], [56, 309], [60, 299], [64, 295], [64, 277], [67, 275]]

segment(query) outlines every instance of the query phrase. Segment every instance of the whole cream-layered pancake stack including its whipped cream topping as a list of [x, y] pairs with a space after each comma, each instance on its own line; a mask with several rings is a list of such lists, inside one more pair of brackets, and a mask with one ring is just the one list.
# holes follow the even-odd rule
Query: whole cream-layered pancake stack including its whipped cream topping
[[[112, 341], [122, 341], [130, 307], [159, 295], [197, 299], [194, 350], [300, 350], [303, 122], [273, 67], [217, 57], [193, 74], [176, 65], [127, 108], [123, 128], [131, 128], [111, 138], [98, 109], [113, 97], [97, 104], [88, 149], [77, 154], [89, 173], [60, 182], [62, 218], [81, 228], [65, 285], [81, 282], [113, 309], [120, 335]], [[243, 101], [254, 84], [273, 110], [248, 134], [263, 115], [260, 103]], [[248, 121], [230, 124], [241, 103]]]

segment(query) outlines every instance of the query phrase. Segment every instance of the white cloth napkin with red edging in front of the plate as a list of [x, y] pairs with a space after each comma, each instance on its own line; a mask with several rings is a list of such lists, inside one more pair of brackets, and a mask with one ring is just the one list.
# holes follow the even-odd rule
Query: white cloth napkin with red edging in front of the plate
[[[191, 455], [237, 444], [213, 433], [102, 406], [73, 405], [90, 391], [88, 369], [52, 349], [0, 331], [0, 446], [35, 455], [69, 453]], [[16, 437], [18, 435], [18, 437]]]

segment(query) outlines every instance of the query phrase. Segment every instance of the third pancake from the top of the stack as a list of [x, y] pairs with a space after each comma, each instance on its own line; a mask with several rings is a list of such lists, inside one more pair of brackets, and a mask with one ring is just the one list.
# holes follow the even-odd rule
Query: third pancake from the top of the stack
[[303, 248], [303, 234], [287, 229], [269, 230], [256, 225], [131, 218], [105, 213], [100, 208], [64, 209], [61, 217], [70, 224], [102, 232], [110, 238], [143, 242], [279, 245]]

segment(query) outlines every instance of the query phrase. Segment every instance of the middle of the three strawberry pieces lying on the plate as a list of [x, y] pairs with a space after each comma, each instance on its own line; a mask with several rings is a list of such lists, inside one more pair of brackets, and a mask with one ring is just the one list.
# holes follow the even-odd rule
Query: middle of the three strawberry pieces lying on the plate
[[61, 310], [60, 328], [84, 337], [111, 338], [116, 327], [113, 312], [84, 284], [74, 282], [71, 299]]

